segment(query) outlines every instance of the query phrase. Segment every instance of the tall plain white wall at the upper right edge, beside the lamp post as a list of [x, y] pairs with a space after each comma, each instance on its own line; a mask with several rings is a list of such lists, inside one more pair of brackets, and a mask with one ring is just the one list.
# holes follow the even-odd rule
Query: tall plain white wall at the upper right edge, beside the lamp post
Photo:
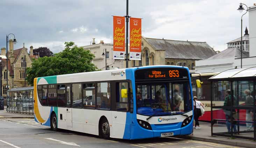
[[250, 57], [256, 56], [256, 6], [249, 8], [249, 47]]

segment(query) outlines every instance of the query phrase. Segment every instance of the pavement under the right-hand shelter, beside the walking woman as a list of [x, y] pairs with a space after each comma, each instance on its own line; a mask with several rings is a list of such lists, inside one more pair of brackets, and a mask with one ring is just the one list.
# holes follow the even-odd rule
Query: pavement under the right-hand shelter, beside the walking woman
[[[179, 136], [182, 139], [192, 139], [192, 140], [200, 140], [205, 142], [216, 142], [222, 143], [226, 145], [232, 146], [242, 146], [248, 148], [256, 148], [256, 141], [247, 140], [247, 139], [238, 139], [238, 138], [230, 138], [230, 137], [222, 137], [222, 136], [211, 136], [211, 123], [207, 122], [199, 122], [201, 129], [194, 129], [193, 135], [188, 136]], [[213, 133], [217, 132], [226, 132], [227, 127], [225, 124], [214, 124]], [[240, 127], [240, 131], [243, 131], [244, 127]], [[243, 134], [242, 136], [253, 137], [253, 134]]]

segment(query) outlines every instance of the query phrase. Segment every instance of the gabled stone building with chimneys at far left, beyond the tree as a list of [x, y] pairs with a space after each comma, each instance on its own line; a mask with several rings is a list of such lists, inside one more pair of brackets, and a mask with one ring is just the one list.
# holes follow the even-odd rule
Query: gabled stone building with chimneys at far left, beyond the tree
[[[2, 95], [6, 98], [7, 91], [7, 75], [8, 88], [25, 87], [25, 67], [31, 67], [32, 59], [37, 59], [37, 55], [33, 55], [33, 46], [30, 46], [30, 54], [28, 49], [23, 47], [14, 50], [14, 42], [9, 40], [8, 48], [8, 73], [6, 67], [6, 59], [2, 59]], [[6, 48], [1, 48], [1, 55], [6, 56]], [[24, 62], [24, 58], [26, 60]], [[26, 87], [29, 86], [26, 81]]]

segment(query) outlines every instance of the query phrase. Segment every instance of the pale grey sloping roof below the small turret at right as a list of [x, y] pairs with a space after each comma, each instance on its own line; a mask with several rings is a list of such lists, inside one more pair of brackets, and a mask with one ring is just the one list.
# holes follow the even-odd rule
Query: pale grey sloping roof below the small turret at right
[[[208, 59], [220, 59], [225, 57], [241, 58], [241, 49], [239, 48], [227, 48], [222, 52], [209, 57]], [[242, 57], [249, 57], [249, 52], [242, 51]]]

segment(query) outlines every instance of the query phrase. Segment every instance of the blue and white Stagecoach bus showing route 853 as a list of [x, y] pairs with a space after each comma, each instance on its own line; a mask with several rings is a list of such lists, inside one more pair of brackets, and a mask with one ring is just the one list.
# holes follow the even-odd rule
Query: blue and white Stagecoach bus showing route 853
[[35, 121], [99, 135], [143, 139], [189, 135], [193, 101], [187, 67], [155, 65], [34, 79]]

